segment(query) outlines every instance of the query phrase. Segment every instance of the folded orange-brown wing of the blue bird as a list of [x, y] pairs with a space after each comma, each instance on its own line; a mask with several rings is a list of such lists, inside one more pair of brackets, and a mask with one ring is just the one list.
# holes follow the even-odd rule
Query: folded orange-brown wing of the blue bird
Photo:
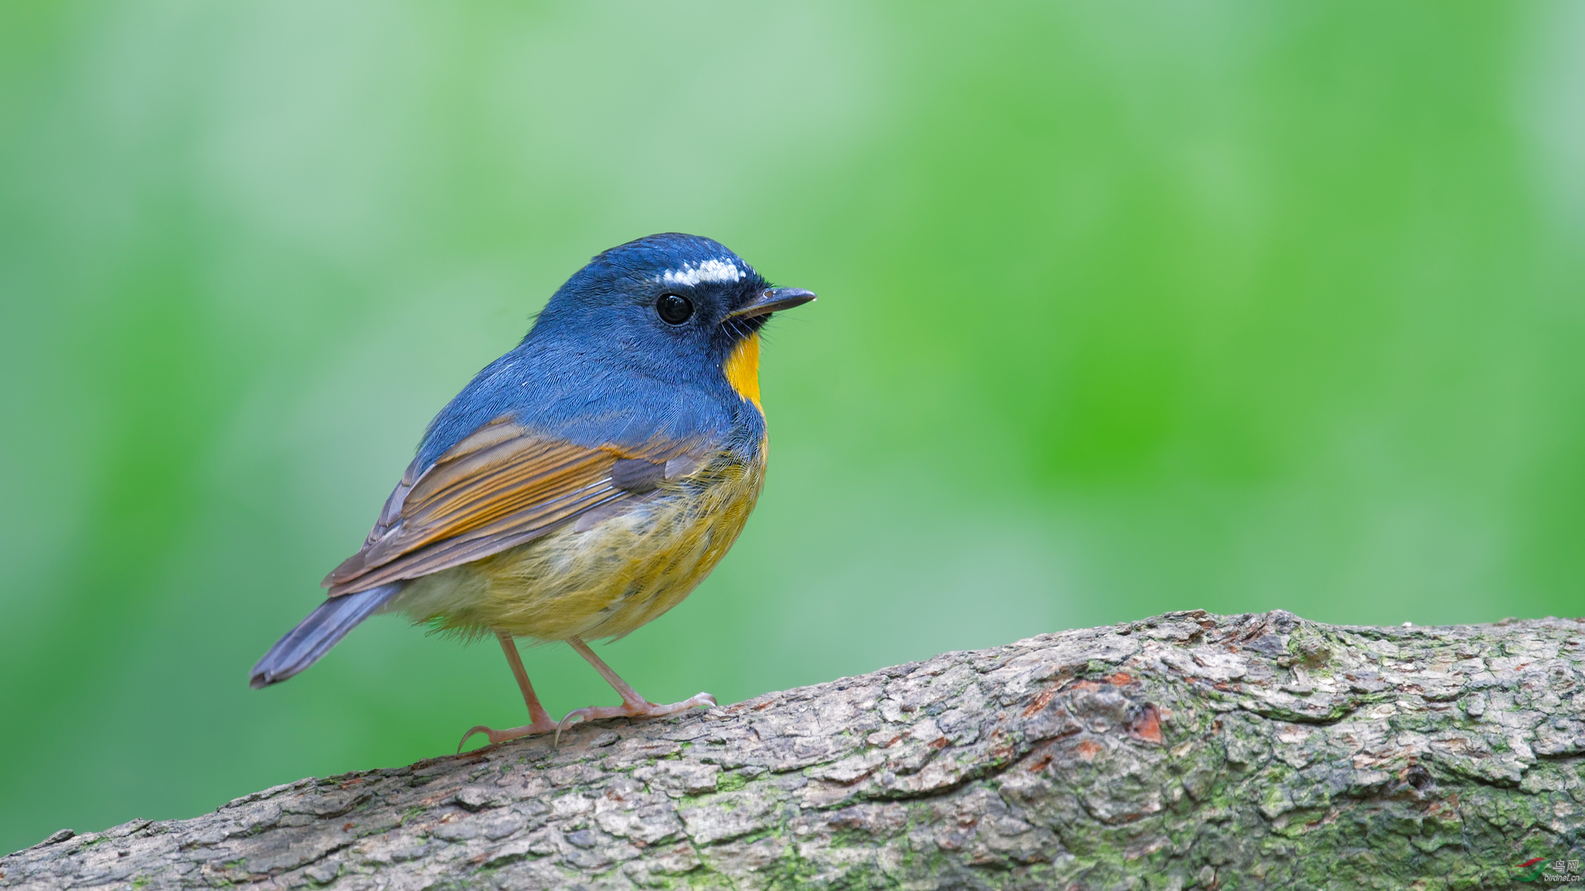
[[498, 419], [428, 469], [409, 466], [363, 549], [331, 571], [325, 587], [331, 596], [350, 595], [520, 545], [639, 495], [640, 487], [612, 479], [618, 461], [664, 468], [688, 452], [685, 442], [591, 449]]

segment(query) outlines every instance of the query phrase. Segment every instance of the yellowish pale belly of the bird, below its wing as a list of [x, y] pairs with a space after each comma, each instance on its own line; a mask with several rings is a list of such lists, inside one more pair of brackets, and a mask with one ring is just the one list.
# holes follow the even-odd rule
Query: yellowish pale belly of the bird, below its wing
[[463, 634], [621, 637], [686, 598], [721, 561], [764, 485], [754, 461], [723, 455], [631, 511], [409, 582], [391, 604]]

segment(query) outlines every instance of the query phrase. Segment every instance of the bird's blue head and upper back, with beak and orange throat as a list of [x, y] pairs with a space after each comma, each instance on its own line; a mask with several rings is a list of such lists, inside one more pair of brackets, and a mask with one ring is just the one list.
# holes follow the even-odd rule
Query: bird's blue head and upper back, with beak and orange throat
[[807, 290], [770, 287], [737, 254], [697, 235], [612, 247], [567, 279], [523, 342], [436, 415], [420, 463], [506, 412], [591, 446], [745, 433], [745, 425], [762, 433], [756, 335], [772, 312], [810, 300]]

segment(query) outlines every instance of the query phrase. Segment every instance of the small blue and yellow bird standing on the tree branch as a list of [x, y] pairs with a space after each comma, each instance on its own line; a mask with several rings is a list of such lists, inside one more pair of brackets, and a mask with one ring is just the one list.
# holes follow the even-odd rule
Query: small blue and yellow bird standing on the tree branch
[[[713, 707], [656, 704], [590, 648], [683, 601], [737, 541], [769, 457], [759, 333], [815, 293], [773, 287], [710, 238], [661, 233], [598, 254], [528, 335], [444, 407], [327, 599], [254, 666], [255, 690], [319, 661], [363, 620], [404, 614], [493, 636], [529, 723], [471, 728], [491, 744], [580, 721]], [[566, 641], [621, 698], [553, 720], [518, 639]]]

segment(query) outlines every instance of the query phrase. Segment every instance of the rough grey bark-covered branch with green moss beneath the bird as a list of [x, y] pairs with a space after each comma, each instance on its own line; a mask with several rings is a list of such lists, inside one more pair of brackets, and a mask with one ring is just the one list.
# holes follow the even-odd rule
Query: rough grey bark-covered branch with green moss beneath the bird
[[1582, 660], [1176, 612], [62, 831], [0, 886], [1506, 886], [1580, 858]]

